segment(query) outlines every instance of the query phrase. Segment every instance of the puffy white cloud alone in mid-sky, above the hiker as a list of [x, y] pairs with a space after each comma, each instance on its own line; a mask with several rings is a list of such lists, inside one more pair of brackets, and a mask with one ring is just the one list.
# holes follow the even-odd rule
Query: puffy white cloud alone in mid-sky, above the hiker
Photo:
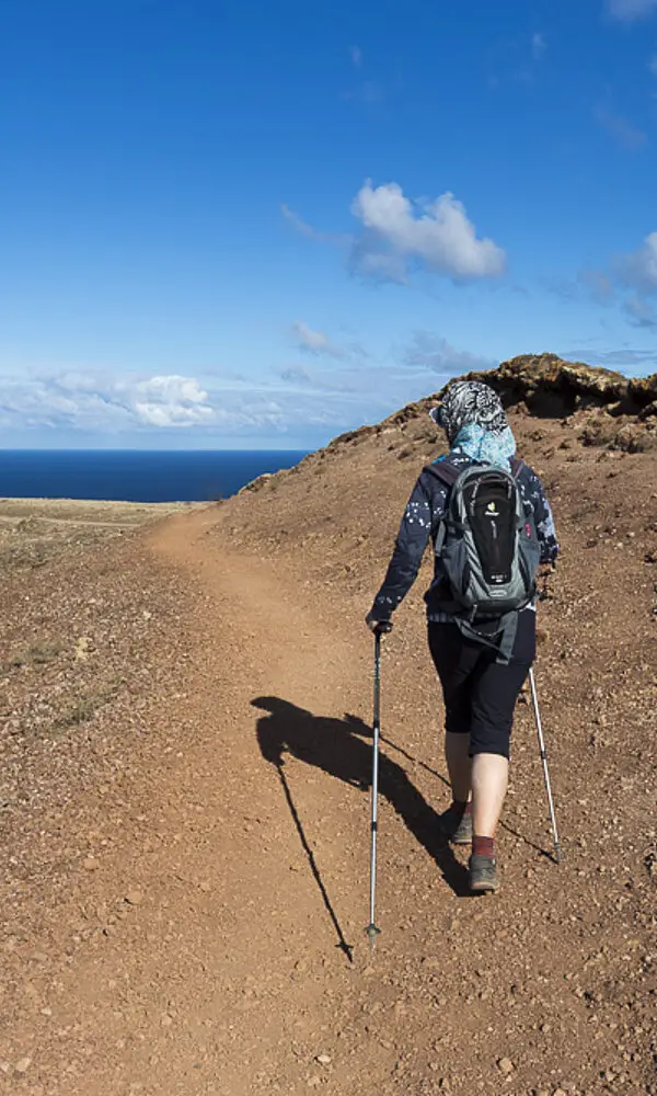
[[452, 194], [416, 210], [397, 183], [374, 189], [368, 181], [351, 212], [366, 230], [354, 250], [354, 265], [361, 273], [385, 273], [389, 263], [395, 281], [405, 276], [410, 263], [454, 279], [497, 277], [504, 272], [504, 251], [493, 240], [477, 239]]

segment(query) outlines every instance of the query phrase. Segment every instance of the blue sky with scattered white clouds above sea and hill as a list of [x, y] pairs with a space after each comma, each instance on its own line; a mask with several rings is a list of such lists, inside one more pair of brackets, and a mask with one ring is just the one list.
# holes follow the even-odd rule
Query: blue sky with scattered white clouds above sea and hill
[[657, 369], [657, 0], [4, 0], [0, 150], [5, 447]]

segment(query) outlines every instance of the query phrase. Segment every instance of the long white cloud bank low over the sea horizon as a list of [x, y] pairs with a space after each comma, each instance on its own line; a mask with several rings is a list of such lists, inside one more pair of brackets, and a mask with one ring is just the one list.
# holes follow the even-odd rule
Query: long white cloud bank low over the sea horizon
[[[188, 437], [189, 431], [208, 445], [219, 431], [254, 447], [265, 432], [283, 447], [310, 447], [313, 431], [330, 437], [351, 422], [376, 422], [408, 402], [408, 391], [419, 398], [457, 373], [496, 364], [416, 332], [408, 346], [395, 350], [397, 364], [373, 365], [359, 357], [358, 347], [337, 347], [302, 321], [295, 324], [299, 328], [314, 361], [272, 372], [258, 384], [231, 375], [135, 375], [110, 381], [84, 373], [0, 376], [0, 429], [11, 433], [26, 424], [45, 432], [46, 441], [61, 434], [69, 444], [78, 432], [103, 444], [129, 433], [139, 445], [172, 434]], [[342, 358], [337, 368], [336, 356]]]

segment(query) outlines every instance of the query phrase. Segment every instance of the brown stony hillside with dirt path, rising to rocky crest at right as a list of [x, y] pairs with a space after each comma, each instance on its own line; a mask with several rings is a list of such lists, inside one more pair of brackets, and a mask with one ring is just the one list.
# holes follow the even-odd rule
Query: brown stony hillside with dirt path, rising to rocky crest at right
[[654, 378], [585, 372], [487, 378], [563, 545], [537, 675], [565, 861], [523, 704], [502, 893], [469, 898], [437, 837], [425, 570], [384, 654], [373, 957], [362, 617], [439, 452], [429, 401], [5, 585], [8, 1092], [657, 1092]]

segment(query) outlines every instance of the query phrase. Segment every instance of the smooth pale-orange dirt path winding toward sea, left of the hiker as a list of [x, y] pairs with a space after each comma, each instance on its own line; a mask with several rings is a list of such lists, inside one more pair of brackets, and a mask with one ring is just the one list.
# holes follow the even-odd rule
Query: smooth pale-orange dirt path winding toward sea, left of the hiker
[[[220, 804], [194, 871], [222, 915], [219, 923], [210, 915], [195, 945], [209, 978], [189, 986], [188, 1008], [198, 1023], [207, 1000], [214, 1038], [205, 1081], [193, 1091], [304, 1092], [328, 1083], [341, 1058], [357, 1054], [348, 1084], [356, 1092], [369, 1058], [347, 1039], [356, 1011], [354, 944], [366, 950], [368, 800], [358, 785], [367, 770], [336, 780], [323, 770], [324, 747], [316, 757], [313, 749], [320, 729], [337, 739], [333, 720], [342, 723], [345, 705], [362, 700], [362, 667], [344, 636], [319, 624], [265, 561], [254, 568], [217, 545], [208, 550], [204, 533], [215, 525], [210, 514], [178, 520], [153, 539], [157, 552], [194, 575], [207, 608], [195, 637], [207, 659], [205, 688], [194, 705], [212, 734], [201, 732], [186, 772], [197, 802], [205, 791], [208, 811]], [[357, 718], [353, 726], [367, 733]], [[288, 742], [307, 730], [307, 755], [290, 756]], [[331, 743], [333, 757], [339, 746]], [[354, 813], [364, 838], [358, 850]], [[214, 902], [204, 905], [207, 913]], [[181, 1061], [174, 1080], [168, 1060], [153, 1092], [177, 1092], [176, 1084], [188, 1092], [191, 1069], [194, 1062]]]

